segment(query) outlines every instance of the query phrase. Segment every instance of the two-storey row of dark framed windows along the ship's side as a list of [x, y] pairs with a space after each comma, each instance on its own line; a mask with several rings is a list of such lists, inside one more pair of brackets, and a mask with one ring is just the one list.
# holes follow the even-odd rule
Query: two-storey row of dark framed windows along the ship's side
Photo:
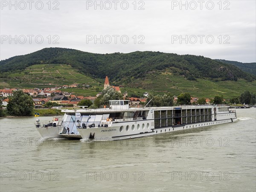
[[180, 109], [154, 111], [154, 127], [168, 127], [212, 121], [212, 109]]

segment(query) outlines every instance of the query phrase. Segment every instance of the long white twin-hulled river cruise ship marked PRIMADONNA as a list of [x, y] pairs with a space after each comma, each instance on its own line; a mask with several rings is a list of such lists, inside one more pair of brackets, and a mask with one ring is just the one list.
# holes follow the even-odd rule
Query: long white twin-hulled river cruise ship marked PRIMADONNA
[[49, 126], [36, 123], [42, 137], [83, 138], [90, 141], [123, 140], [200, 128], [236, 121], [229, 106], [181, 105], [174, 107], [129, 106], [127, 100], [111, 100], [99, 109], [62, 110], [63, 119]]

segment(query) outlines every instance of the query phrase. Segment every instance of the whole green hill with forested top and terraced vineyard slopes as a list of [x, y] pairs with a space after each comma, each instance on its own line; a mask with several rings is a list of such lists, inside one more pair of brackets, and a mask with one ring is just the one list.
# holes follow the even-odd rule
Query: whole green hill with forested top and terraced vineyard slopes
[[94, 54], [75, 49], [45, 48], [0, 61], [0, 87], [53, 87], [84, 83], [87, 89], [66, 89], [96, 95], [105, 76], [122, 92], [141, 95], [189, 92], [193, 96], [232, 97], [256, 92], [256, 76], [232, 64], [195, 55], [163, 52]]

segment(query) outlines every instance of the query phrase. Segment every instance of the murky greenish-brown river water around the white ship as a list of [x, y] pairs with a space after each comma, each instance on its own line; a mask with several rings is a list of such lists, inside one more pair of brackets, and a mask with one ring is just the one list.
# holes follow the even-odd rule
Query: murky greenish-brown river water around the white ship
[[[256, 108], [238, 121], [132, 140], [42, 140], [0, 119], [0, 191], [256, 191]], [[41, 122], [52, 117], [37, 117]]]

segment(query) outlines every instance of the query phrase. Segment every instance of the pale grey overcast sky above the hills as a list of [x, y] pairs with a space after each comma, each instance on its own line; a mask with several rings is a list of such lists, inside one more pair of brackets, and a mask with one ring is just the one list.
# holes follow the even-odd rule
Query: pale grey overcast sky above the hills
[[1, 0], [0, 35], [1, 60], [64, 47], [256, 62], [256, 1]]

